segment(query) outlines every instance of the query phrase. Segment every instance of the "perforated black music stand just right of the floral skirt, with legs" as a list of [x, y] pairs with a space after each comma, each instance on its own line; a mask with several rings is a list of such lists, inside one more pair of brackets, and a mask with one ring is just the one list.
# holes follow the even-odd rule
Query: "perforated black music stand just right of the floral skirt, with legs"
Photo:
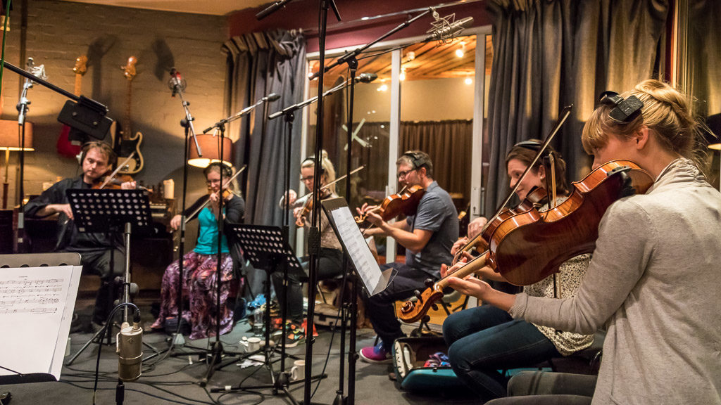
[[[280, 340], [280, 373], [275, 375], [273, 371], [273, 364], [270, 361], [271, 355], [273, 355], [273, 347], [270, 347], [270, 275], [273, 272], [282, 271], [283, 280], [287, 283], [288, 275], [298, 275], [306, 277], [306, 272], [303, 266], [298, 262], [298, 257], [288, 245], [288, 242], [283, 237], [283, 231], [278, 226], [260, 226], [260, 225], [244, 225], [237, 223], [229, 223], [225, 226], [226, 235], [231, 241], [236, 242], [242, 249], [243, 257], [250, 262], [250, 264], [256, 269], [265, 270], [265, 296], [267, 304], [265, 305], [265, 346], [260, 349], [265, 355], [264, 366], [270, 373], [271, 385], [267, 386], [248, 386], [248, 387], [233, 387], [230, 391], [238, 391], [242, 389], [250, 388], [272, 388], [273, 394], [278, 393], [278, 390], [283, 390], [293, 404], [298, 402], [293, 399], [291, 393], [288, 392], [288, 386], [295, 383], [304, 383], [304, 378], [299, 378], [292, 383], [288, 380], [288, 374], [286, 370], [286, 320], [285, 320], [285, 308], [283, 308], [283, 335]], [[286, 287], [286, 291], [288, 288]], [[276, 291], [278, 293], [278, 291]], [[311, 299], [311, 298], [309, 298]], [[306, 339], [312, 339], [312, 336], [307, 335]], [[249, 353], [248, 355], [253, 355]], [[247, 356], [246, 356], [247, 357]], [[325, 378], [326, 375], [317, 375], [314, 378]], [[229, 390], [218, 389], [211, 390], [211, 392], [226, 392]]]

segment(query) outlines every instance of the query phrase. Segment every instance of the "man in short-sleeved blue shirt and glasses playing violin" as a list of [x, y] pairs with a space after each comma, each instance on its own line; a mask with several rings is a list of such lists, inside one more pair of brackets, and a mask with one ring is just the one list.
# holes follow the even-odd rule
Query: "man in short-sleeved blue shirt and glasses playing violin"
[[[381, 293], [366, 297], [366, 315], [380, 338], [375, 347], [361, 350], [361, 358], [366, 362], [391, 361], [391, 345], [395, 339], [405, 336], [396, 319], [395, 301], [410, 298], [415, 290], [424, 290], [428, 278], [440, 278], [441, 264], [452, 261], [451, 247], [459, 234], [456, 207], [448, 192], [433, 180], [433, 162], [428, 153], [407, 151], [396, 164], [401, 185], [419, 185], [425, 189], [425, 194], [418, 203], [416, 214], [405, 221], [386, 223], [376, 213], [368, 212], [368, 221], [376, 227], [368, 230], [366, 235], [392, 237], [406, 248], [406, 261], [382, 265], [382, 270], [393, 267], [398, 274]], [[360, 211], [366, 210], [368, 207], [364, 205]]]

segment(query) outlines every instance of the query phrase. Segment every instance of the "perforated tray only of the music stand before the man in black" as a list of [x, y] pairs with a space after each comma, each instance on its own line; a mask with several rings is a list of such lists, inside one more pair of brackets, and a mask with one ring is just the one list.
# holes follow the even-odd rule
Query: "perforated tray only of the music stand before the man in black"
[[146, 190], [66, 190], [80, 232], [107, 233], [130, 223], [133, 231], [151, 231], [153, 218]]

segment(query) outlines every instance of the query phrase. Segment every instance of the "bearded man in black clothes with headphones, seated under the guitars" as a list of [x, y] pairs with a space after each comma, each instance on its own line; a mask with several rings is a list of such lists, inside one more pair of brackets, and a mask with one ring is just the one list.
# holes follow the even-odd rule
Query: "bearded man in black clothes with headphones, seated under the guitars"
[[[110, 172], [117, 161], [118, 156], [107, 143], [98, 141], [85, 143], [79, 159], [82, 174], [79, 177], [62, 179], [25, 205], [25, 215], [28, 217], [44, 218], [57, 213], [58, 241], [55, 251], [79, 253], [83, 270], [100, 276], [102, 285], [95, 299], [92, 316], [95, 324], [103, 324], [112, 310], [113, 278], [123, 274], [125, 249], [123, 249], [123, 241], [118, 235], [108, 236], [105, 233], [79, 232], [73, 222], [73, 213], [65, 192], [70, 189], [92, 188], [107, 172]], [[123, 189], [135, 187], [135, 182], [121, 184]], [[115, 249], [115, 252], [111, 265], [110, 249], [112, 248]]]

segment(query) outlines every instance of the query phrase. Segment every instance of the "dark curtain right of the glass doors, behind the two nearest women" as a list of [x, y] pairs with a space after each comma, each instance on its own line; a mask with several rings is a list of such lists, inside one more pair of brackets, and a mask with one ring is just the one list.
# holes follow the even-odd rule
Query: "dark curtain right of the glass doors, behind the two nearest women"
[[494, 19], [485, 196], [492, 215], [508, 193], [505, 153], [518, 141], [545, 138], [568, 104], [554, 140], [568, 180], [590, 169], [580, 133], [598, 94], [624, 92], [658, 71], [668, 14], [664, 0], [490, 0]]

